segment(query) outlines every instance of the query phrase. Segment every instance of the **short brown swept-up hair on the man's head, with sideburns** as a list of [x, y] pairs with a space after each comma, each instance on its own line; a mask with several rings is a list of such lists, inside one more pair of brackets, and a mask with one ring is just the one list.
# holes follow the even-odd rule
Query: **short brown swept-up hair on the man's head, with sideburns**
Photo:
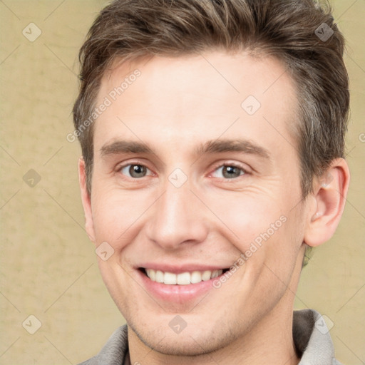
[[91, 192], [93, 124], [101, 78], [116, 58], [247, 50], [279, 58], [296, 82], [293, 121], [303, 197], [334, 158], [344, 157], [349, 81], [344, 37], [330, 8], [312, 0], [115, 0], [81, 47], [80, 93], [73, 107]]

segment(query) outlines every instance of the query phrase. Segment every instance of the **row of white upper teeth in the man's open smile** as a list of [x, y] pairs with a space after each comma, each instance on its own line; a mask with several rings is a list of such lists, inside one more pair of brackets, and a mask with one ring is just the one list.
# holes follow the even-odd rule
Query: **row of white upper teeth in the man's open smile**
[[197, 284], [201, 281], [207, 281], [219, 277], [222, 275], [223, 270], [206, 270], [203, 272], [193, 271], [193, 272], [182, 272], [181, 274], [173, 274], [172, 272], [162, 272], [160, 270], [145, 269], [147, 276], [153, 282], [161, 282], [167, 285], [187, 285], [187, 284]]

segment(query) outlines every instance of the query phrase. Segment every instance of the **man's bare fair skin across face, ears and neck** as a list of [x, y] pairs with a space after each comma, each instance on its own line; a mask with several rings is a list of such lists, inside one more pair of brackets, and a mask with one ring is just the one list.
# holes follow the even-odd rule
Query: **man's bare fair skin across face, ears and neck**
[[[95, 122], [91, 196], [79, 162], [88, 235], [96, 247], [108, 242], [114, 250], [98, 264], [128, 322], [130, 363], [297, 364], [292, 309], [304, 242], [320, 245], [336, 230], [349, 185], [346, 162], [334, 160], [329, 184], [315, 179], [302, 199], [297, 141], [289, 133], [297, 123], [295, 85], [274, 58], [210, 51], [115, 63], [98, 103], [136, 68], [140, 77]], [[247, 96], [261, 103], [253, 115], [241, 107]], [[268, 157], [196, 153], [207, 141], [238, 139]], [[145, 143], [153, 153], [110, 153], [117, 140]], [[122, 168], [128, 164], [145, 166], [146, 175], [131, 177], [129, 166]], [[232, 164], [238, 176], [227, 178], [222, 165]], [[181, 187], [168, 179], [176, 168], [187, 178]], [[171, 303], [143, 287], [141, 263], [230, 267], [282, 216], [262, 247], [205, 297]], [[187, 323], [180, 334], [169, 327], [177, 314]]]

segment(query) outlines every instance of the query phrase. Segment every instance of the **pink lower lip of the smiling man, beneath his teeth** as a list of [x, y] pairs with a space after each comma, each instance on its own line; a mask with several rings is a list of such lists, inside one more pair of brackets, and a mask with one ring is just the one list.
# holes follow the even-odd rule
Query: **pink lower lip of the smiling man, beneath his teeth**
[[140, 270], [137, 271], [138, 274], [140, 274], [144, 287], [148, 290], [150, 294], [153, 295], [153, 297], [157, 299], [162, 299], [164, 302], [172, 302], [178, 304], [189, 302], [191, 300], [202, 297], [202, 295], [209, 292], [209, 290], [214, 289], [214, 287], [212, 286], [212, 282], [214, 280], [220, 279], [219, 276], [213, 279], [209, 279], [206, 282], [198, 282], [197, 284], [166, 285], [160, 282], [153, 282], [143, 272], [141, 272]]

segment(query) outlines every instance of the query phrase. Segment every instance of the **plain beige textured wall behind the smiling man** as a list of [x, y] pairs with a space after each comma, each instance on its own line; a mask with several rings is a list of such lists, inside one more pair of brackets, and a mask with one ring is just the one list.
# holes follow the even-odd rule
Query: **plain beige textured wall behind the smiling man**
[[[66, 140], [73, 131], [76, 55], [104, 4], [0, 1], [0, 364], [77, 364], [96, 354], [124, 322], [83, 229], [80, 148]], [[336, 356], [355, 365], [365, 363], [365, 1], [333, 4], [348, 40], [351, 187], [336, 235], [304, 269], [295, 306], [325, 314], [334, 324]], [[33, 42], [22, 34], [25, 29], [28, 37], [36, 35], [31, 22], [41, 30]], [[30, 169], [38, 183], [34, 172], [23, 178]], [[41, 322], [35, 334], [26, 331], [36, 326], [29, 315]]]

